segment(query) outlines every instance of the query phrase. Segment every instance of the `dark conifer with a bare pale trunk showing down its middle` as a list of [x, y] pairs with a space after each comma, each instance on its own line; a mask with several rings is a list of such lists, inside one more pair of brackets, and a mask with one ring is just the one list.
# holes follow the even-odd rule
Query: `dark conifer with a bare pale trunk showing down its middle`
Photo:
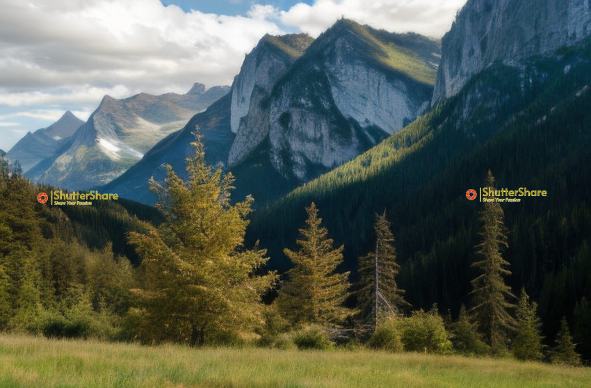
[[374, 224], [375, 250], [359, 258], [359, 289], [356, 291], [359, 310], [375, 328], [385, 314], [396, 314], [410, 304], [404, 300], [404, 290], [398, 288], [394, 234], [384, 213], [376, 214]]

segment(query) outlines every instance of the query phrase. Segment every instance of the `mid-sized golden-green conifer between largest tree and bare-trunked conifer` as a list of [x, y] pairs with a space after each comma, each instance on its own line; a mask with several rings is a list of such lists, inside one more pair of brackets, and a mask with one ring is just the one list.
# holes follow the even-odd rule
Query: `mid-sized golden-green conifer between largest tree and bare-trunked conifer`
[[300, 250], [284, 250], [293, 268], [286, 272], [289, 280], [284, 282], [277, 303], [294, 325], [338, 325], [350, 315], [350, 310], [343, 307], [349, 273], [335, 273], [343, 261], [343, 245], [332, 248], [333, 241], [327, 239], [328, 231], [321, 227], [322, 218], [318, 218], [314, 202], [306, 211], [307, 227], [300, 229], [301, 239], [296, 241]]

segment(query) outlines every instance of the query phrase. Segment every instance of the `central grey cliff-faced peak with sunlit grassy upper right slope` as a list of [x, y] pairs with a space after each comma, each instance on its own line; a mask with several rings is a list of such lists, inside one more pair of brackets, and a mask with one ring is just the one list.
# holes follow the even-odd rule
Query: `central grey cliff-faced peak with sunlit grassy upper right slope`
[[426, 110], [438, 55], [438, 43], [420, 35], [341, 19], [293, 63], [269, 97], [268, 87], [253, 88], [230, 168], [263, 143], [273, 168], [300, 183], [352, 159]]

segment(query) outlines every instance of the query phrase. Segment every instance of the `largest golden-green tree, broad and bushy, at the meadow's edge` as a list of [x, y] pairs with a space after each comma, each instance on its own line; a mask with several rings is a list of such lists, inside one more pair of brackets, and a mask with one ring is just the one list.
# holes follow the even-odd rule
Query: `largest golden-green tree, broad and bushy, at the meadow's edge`
[[132, 290], [140, 337], [199, 346], [261, 325], [261, 293], [276, 275], [255, 276], [266, 251], [243, 248], [252, 198], [230, 204], [234, 178], [205, 163], [200, 135], [191, 145], [188, 181], [170, 165], [165, 184], [150, 180], [165, 222], [129, 241], [142, 259], [143, 288]]

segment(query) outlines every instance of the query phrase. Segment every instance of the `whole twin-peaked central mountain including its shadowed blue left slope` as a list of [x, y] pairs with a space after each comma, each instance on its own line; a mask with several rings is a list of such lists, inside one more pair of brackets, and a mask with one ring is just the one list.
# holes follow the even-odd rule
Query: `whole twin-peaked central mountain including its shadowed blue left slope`
[[435, 40], [346, 19], [316, 40], [266, 35], [245, 57], [223, 101], [104, 189], [153, 204], [147, 180], [161, 177], [163, 163], [183, 175], [190, 134], [199, 123], [206, 155], [216, 149], [211, 161], [225, 163], [236, 175], [234, 196], [252, 194], [260, 206], [353, 159], [424, 113], [439, 53]]

